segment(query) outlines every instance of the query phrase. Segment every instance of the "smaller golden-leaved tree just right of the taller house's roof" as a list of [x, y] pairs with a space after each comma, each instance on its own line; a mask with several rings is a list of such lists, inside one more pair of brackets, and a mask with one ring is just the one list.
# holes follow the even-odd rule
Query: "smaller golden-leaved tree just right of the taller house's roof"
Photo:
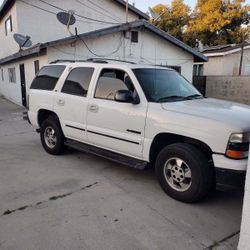
[[153, 23], [172, 36], [183, 40], [183, 30], [189, 21], [190, 7], [183, 0], [173, 0], [171, 5], [156, 5], [153, 10], [161, 15], [159, 21]]

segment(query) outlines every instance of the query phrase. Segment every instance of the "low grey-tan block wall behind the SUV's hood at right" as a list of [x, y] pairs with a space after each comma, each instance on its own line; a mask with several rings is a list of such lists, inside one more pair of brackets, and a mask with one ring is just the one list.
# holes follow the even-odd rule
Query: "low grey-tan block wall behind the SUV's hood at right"
[[250, 105], [250, 76], [208, 76], [206, 96]]

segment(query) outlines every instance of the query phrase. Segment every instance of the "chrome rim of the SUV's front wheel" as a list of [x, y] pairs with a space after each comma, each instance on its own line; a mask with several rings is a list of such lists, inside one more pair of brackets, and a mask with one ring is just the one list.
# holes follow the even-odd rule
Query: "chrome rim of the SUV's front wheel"
[[176, 191], [185, 192], [192, 184], [192, 172], [188, 164], [173, 157], [164, 165], [164, 177], [168, 185]]

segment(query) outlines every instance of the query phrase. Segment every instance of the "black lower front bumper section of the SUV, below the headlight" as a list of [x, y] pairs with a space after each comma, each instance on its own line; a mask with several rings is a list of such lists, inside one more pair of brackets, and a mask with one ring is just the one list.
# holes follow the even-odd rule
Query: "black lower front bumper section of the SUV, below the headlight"
[[216, 183], [222, 186], [241, 187], [245, 184], [246, 171], [215, 168]]

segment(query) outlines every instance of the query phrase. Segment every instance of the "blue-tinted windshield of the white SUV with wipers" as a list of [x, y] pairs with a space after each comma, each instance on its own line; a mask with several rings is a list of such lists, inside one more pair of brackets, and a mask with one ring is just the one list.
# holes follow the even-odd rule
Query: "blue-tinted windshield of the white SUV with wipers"
[[169, 102], [203, 98], [184, 77], [174, 70], [140, 68], [133, 70], [151, 102]]

